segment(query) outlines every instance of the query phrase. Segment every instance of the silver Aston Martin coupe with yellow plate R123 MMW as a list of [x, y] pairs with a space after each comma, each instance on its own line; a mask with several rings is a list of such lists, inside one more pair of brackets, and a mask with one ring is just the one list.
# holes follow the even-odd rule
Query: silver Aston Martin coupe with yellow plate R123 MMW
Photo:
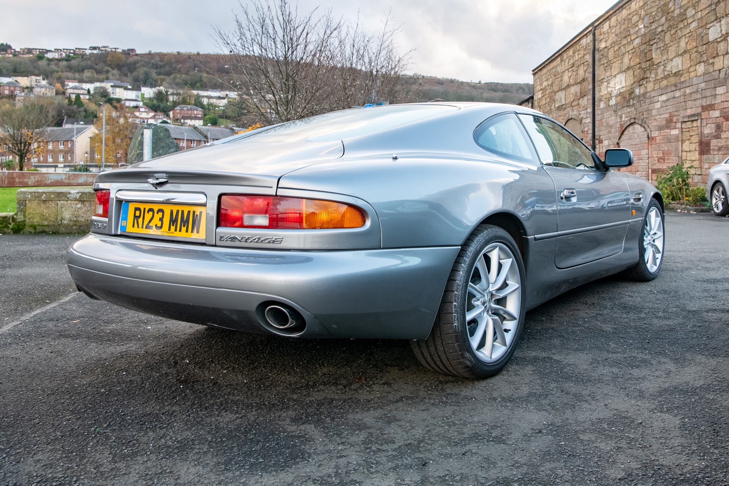
[[[654, 279], [663, 198], [559, 123], [505, 104], [365, 107], [99, 174], [79, 290], [290, 338], [408, 339], [496, 374], [524, 313], [624, 271]], [[609, 318], [606, 316], [606, 318]]]

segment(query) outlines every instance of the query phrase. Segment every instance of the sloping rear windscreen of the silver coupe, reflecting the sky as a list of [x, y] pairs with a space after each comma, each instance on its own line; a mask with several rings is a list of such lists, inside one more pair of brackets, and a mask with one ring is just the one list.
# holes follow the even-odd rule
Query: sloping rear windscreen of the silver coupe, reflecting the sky
[[346, 109], [263, 129], [241, 142], [334, 142], [374, 134], [456, 109], [448, 105], [418, 104]]

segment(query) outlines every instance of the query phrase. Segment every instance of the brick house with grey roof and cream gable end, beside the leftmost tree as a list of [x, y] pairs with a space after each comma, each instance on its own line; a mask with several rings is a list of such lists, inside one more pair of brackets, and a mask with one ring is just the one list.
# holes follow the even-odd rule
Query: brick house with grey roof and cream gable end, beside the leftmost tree
[[47, 127], [39, 131], [42, 153], [33, 159], [36, 164], [73, 164], [93, 161], [90, 138], [98, 134], [93, 125]]

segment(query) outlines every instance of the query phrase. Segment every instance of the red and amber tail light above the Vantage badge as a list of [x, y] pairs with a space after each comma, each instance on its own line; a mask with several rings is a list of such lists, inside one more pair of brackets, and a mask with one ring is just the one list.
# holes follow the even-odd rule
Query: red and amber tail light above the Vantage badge
[[222, 196], [218, 220], [224, 228], [324, 229], [364, 226], [362, 212], [348, 204], [276, 196]]

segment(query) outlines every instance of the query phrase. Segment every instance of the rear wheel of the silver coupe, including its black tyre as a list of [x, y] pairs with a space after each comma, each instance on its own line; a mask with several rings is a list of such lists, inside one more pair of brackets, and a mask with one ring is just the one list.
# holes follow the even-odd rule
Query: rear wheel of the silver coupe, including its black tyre
[[[499, 261], [496, 271], [491, 261]], [[477, 226], [453, 263], [430, 335], [410, 341], [418, 360], [456, 377], [497, 374], [521, 336], [525, 280], [521, 253], [510, 234], [494, 225]]]

